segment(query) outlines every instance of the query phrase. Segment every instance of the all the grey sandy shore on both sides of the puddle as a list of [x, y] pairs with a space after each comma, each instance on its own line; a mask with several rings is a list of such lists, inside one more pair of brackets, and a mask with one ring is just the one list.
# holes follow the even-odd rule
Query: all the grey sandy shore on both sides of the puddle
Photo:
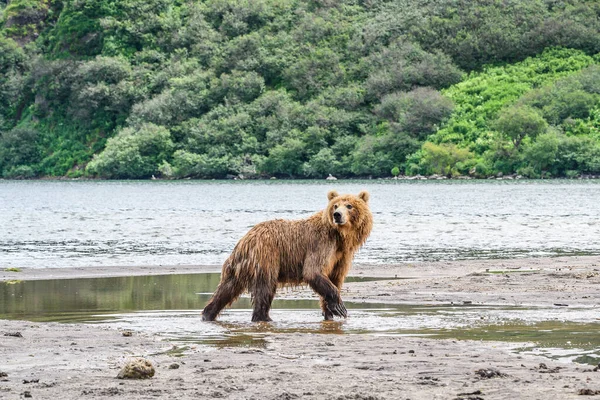
[[[218, 270], [25, 269], [1, 272], [0, 280]], [[356, 265], [351, 275], [410, 279], [348, 283], [346, 301], [561, 304], [600, 310], [600, 257]], [[283, 291], [280, 296], [314, 294]], [[22, 337], [4, 336], [16, 332]], [[0, 373], [7, 376], [0, 377], [0, 398], [23, 398], [26, 392], [44, 399], [571, 399], [596, 391], [600, 396], [600, 371], [517, 354], [511, 349], [523, 345], [518, 343], [300, 333], [267, 334], [261, 343], [198, 345], [177, 357], [181, 354], [170, 351], [168, 343], [142, 333], [125, 337], [94, 325], [3, 320]], [[151, 360], [156, 375], [144, 381], [116, 379], [132, 356]]]

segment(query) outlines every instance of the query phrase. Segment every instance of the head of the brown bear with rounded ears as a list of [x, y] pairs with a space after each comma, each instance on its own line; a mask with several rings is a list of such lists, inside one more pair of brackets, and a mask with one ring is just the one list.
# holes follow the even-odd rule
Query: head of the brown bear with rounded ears
[[323, 215], [324, 222], [342, 233], [356, 233], [361, 242], [366, 240], [373, 226], [373, 215], [368, 204], [369, 193], [362, 191], [358, 196], [340, 195], [332, 190], [327, 198], [329, 204]]

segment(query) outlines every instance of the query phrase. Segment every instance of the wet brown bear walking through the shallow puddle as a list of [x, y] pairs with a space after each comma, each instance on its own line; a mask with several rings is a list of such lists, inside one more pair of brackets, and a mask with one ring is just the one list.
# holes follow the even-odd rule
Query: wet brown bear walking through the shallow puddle
[[276, 219], [254, 226], [223, 264], [221, 282], [202, 312], [214, 321], [244, 291], [252, 296], [252, 321], [271, 321], [277, 286], [307, 283], [319, 296], [326, 320], [346, 317], [340, 289], [354, 253], [373, 227], [369, 193], [327, 194], [325, 210], [301, 220]]

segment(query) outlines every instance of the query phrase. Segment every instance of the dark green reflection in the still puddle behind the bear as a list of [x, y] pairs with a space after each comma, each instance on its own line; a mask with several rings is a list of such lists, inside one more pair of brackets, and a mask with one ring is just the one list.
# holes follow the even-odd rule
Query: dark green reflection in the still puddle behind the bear
[[[87, 320], [90, 313], [202, 310], [219, 280], [220, 274], [213, 273], [0, 283], [0, 318], [76, 322]], [[316, 295], [314, 300], [276, 299], [273, 307], [320, 312]], [[250, 298], [239, 298], [232, 308], [251, 309]]]

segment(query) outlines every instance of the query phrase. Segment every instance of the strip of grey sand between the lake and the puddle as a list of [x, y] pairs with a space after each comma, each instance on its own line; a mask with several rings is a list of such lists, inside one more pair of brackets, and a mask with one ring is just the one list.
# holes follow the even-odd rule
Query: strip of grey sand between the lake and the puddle
[[[23, 268], [0, 271], [0, 282], [220, 273], [220, 265]], [[600, 306], [600, 256], [355, 264], [344, 301], [396, 304]], [[515, 279], [517, 278], [517, 279]], [[280, 288], [277, 298], [316, 298], [307, 287]]]

